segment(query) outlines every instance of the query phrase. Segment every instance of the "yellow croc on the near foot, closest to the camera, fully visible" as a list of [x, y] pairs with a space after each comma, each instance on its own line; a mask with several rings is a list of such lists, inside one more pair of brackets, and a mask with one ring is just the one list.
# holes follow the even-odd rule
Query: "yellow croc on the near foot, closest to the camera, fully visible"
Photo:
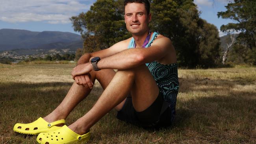
[[39, 144], [74, 144], [76, 142], [88, 142], [90, 138], [90, 132], [78, 135], [64, 125], [56, 131], [40, 133], [37, 136], [37, 142]]

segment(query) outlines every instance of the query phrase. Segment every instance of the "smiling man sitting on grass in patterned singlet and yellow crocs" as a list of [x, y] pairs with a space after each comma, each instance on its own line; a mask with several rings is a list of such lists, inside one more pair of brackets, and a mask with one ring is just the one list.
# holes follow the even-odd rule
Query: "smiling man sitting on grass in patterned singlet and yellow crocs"
[[[126, 28], [133, 37], [108, 49], [84, 54], [73, 68], [75, 82], [63, 102], [44, 118], [16, 124], [14, 131], [40, 133], [37, 142], [42, 144], [88, 141], [90, 127], [113, 108], [120, 120], [145, 128], [171, 124], [178, 94], [175, 50], [170, 39], [149, 31], [148, 0], [125, 0], [124, 6]], [[90, 93], [95, 79], [104, 92], [92, 109], [70, 126], [58, 127]]]

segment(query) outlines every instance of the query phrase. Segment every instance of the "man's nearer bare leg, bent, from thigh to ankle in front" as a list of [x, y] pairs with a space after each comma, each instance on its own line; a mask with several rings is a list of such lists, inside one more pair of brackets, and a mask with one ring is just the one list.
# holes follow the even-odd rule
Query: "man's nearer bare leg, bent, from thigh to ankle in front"
[[119, 70], [93, 108], [69, 128], [80, 135], [86, 133], [100, 118], [123, 102], [129, 92], [137, 112], [144, 111], [156, 100], [159, 89], [147, 66]]

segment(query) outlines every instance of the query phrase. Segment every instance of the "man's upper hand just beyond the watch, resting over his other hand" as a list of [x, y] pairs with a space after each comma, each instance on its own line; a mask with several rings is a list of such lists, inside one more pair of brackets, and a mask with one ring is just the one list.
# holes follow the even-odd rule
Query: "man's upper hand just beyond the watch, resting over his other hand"
[[74, 67], [71, 72], [71, 75], [72, 75], [73, 79], [75, 80], [76, 76], [80, 76], [83, 74], [89, 74], [89, 72], [91, 72], [91, 70], [93, 70], [93, 65], [91, 65], [91, 63], [83, 63], [81, 65]]

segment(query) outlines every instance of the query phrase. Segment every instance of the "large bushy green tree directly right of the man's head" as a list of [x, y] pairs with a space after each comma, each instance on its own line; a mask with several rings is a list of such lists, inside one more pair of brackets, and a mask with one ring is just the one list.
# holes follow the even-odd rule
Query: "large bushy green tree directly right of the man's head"
[[220, 61], [218, 30], [199, 14], [193, 0], [152, 2], [152, 30], [173, 41], [181, 66], [210, 67]]

